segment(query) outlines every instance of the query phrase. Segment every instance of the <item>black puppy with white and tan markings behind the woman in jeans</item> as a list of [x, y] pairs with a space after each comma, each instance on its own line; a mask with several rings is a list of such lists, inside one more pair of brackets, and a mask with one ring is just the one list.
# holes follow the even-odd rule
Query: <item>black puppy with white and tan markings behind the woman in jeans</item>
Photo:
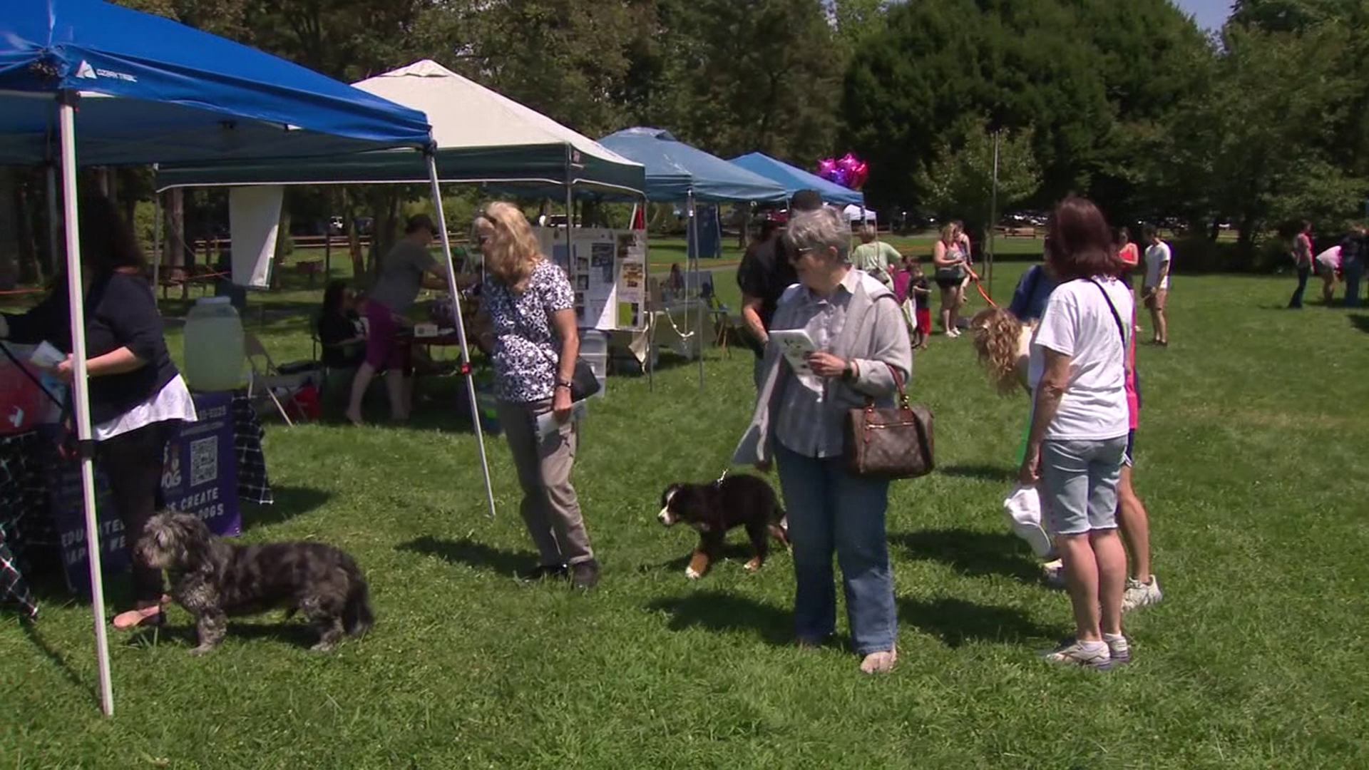
[[698, 547], [684, 569], [689, 580], [704, 577], [708, 566], [721, 558], [727, 532], [738, 526], [745, 526], [752, 540], [747, 570], [758, 570], [765, 563], [769, 537], [789, 547], [784, 508], [771, 485], [754, 475], [730, 475], [712, 484], [672, 484], [661, 493], [661, 512], [656, 518], [665, 526], [684, 523], [698, 530]]

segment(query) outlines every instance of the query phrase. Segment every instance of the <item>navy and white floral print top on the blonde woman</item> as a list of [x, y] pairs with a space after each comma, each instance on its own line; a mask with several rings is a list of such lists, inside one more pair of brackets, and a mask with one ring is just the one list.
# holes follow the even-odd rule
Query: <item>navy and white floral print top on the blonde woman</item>
[[522, 292], [486, 277], [481, 296], [494, 330], [494, 396], [511, 404], [550, 399], [561, 359], [552, 314], [575, 307], [565, 271], [543, 259]]

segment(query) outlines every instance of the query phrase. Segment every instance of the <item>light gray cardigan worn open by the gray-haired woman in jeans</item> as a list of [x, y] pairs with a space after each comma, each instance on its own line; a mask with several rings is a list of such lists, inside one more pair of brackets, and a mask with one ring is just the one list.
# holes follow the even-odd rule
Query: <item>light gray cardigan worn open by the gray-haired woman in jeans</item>
[[[790, 286], [779, 299], [772, 329], [797, 329], [798, 299], [808, 289], [799, 284]], [[846, 308], [846, 325], [832, 344], [831, 353], [856, 360], [860, 377], [854, 382], [828, 380], [824, 385], [827, 408], [850, 410], [865, 406], [865, 397], [879, 407], [894, 404], [897, 388], [888, 371], [893, 366], [904, 375], [905, 388], [913, 375], [913, 347], [908, 338], [908, 323], [898, 308], [898, 299], [878, 280], [860, 273], [860, 282]], [[784, 360], [779, 347], [765, 345], [765, 380], [756, 399], [752, 423], [732, 454], [734, 464], [756, 464], [775, 459], [775, 422], [771, 410], [783, 403], [784, 388], [794, 381], [794, 370]]]

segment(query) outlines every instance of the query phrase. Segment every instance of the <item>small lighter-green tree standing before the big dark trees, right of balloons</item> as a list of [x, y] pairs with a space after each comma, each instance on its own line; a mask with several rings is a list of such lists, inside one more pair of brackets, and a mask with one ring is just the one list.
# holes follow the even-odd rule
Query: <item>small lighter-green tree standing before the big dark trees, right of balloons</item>
[[[961, 219], [972, 234], [986, 236], [994, 195], [994, 132], [984, 121], [962, 118], [951, 140], [938, 144], [919, 174], [924, 210], [941, 221]], [[1040, 166], [1031, 132], [998, 134], [998, 210], [1010, 210], [1040, 186]]]

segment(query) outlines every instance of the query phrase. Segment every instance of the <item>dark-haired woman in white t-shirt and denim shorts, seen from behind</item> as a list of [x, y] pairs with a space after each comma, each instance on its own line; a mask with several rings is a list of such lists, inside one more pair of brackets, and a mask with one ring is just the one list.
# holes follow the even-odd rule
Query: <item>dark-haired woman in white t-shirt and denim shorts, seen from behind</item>
[[1075, 640], [1047, 654], [1101, 669], [1131, 660], [1121, 634], [1127, 554], [1117, 536], [1117, 480], [1127, 451], [1127, 323], [1132, 299], [1116, 278], [1108, 222], [1065, 199], [1047, 227], [1046, 259], [1061, 281], [1032, 337], [1032, 425], [1020, 481], [1038, 484], [1046, 529], [1064, 562]]

